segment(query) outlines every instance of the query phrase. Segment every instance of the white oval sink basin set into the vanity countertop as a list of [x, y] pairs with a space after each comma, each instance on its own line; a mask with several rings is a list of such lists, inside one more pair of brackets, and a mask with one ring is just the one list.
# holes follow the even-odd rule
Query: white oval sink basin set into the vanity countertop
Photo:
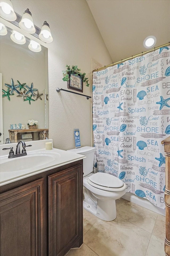
[[28, 153], [27, 156], [19, 156], [12, 159], [7, 158], [1, 161], [1, 172], [15, 172], [35, 167], [41, 168], [42, 165], [52, 163], [59, 157], [59, 153], [36, 152]]

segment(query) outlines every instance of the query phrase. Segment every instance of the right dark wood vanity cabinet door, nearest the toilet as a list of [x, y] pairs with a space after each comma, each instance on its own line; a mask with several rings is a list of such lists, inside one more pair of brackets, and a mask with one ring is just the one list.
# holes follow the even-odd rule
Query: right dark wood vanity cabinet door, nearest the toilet
[[48, 177], [49, 256], [63, 256], [83, 243], [82, 165]]

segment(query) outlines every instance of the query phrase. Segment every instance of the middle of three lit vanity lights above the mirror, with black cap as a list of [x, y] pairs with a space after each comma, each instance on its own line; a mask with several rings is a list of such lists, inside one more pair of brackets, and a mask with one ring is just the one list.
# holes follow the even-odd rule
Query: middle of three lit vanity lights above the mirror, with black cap
[[32, 14], [28, 8], [27, 8], [27, 10], [25, 10], [25, 12], [22, 16], [22, 19], [19, 22], [19, 27], [20, 27], [20, 29], [22, 29], [23, 31], [25, 31], [29, 34], [35, 33], [35, 27], [34, 27], [34, 23], [33, 23], [33, 19], [32, 19]]

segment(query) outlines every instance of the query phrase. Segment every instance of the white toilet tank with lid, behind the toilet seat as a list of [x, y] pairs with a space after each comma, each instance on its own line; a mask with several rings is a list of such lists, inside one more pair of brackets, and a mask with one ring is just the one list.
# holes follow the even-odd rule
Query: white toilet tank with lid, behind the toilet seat
[[68, 151], [86, 156], [86, 158], [83, 159], [83, 177], [93, 171], [95, 147], [86, 146], [81, 148], [70, 149]]

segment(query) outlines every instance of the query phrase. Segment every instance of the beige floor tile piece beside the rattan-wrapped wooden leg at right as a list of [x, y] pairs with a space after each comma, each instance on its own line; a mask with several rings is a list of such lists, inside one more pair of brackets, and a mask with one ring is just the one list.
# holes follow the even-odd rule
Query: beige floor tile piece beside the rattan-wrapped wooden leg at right
[[165, 231], [165, 216], [158, 214], [152, 234], [165, 240]]

